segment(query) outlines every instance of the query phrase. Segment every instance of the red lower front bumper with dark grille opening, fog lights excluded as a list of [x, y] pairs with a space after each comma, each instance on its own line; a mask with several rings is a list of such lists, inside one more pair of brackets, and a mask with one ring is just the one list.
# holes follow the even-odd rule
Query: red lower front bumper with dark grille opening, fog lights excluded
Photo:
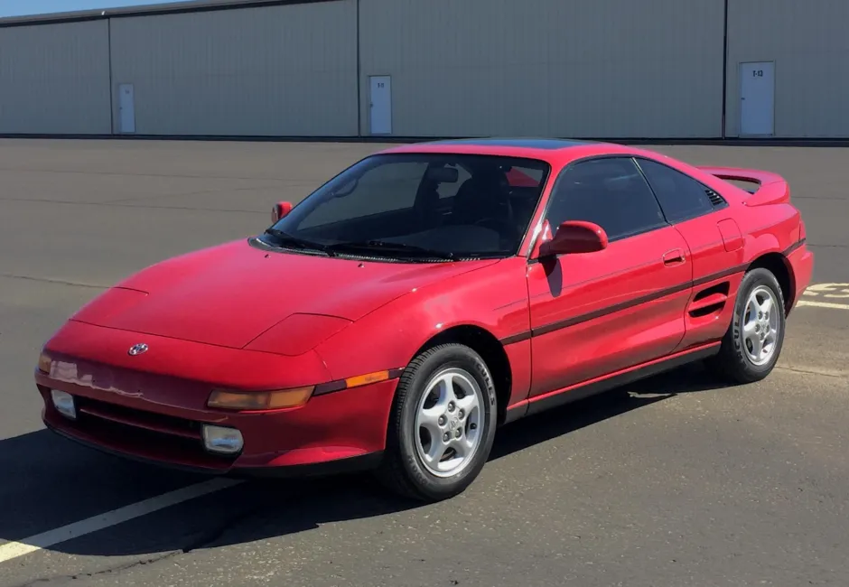
[[231, 415], [216, 421], [238, 428], [245, 438], [242, 452], [232, 456], [204, 447], [201, 426], [210, 423], [210, 414], [187, 413], [187, 417], [176, 418], [153, 409], [127, 409], [75, 395], [78, 416], [70, 420], [53, 407], [50, 389], [71, 394], [75, 390], [43, 383], [38, 385], [44, 401], [42, 421], [70, 440], [184, 471], [254, 476], [353, 471], [377, 464], [386, 445], [388, 421], [388, 408], [381, 406], [391, 405], [397, 382], [315, 397], [307, 405], [285, 412]]

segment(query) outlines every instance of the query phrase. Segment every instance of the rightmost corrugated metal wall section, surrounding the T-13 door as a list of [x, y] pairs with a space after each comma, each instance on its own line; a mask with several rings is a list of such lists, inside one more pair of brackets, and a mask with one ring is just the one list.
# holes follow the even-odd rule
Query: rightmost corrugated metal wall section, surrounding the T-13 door
[[745, 61], [775, 61], [775, 136], [849, 136], [849, 2], [729, 0], [726, 129], [740, 127]]

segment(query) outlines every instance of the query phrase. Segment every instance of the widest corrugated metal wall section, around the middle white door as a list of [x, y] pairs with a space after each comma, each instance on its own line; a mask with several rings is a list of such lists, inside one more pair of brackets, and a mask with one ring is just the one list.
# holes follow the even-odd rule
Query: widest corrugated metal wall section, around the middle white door
[[721, 135], [723, 0], [361, 0], [395, 135]]

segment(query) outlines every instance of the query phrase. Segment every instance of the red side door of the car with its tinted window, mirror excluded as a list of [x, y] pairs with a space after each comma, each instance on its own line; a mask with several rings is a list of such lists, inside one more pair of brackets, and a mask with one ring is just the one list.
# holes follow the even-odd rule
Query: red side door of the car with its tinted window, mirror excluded
[[587, 220], [604, 228], [602, 251], [529, 261], [530, 396], [589, 382], [671, 353], [685, 334], [692, 264], [633, 159], [572, 163], [544, 215], [551, 228]]

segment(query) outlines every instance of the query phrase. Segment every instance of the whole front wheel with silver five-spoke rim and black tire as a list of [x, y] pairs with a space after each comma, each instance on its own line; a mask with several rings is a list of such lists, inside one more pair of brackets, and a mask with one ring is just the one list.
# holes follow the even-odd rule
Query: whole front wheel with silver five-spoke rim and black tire
[[398, 382], [378, 476], [425, 501], [462, 493], [490, 456], [497, 403], [490, 369], [473, 349], [425, 350]]

